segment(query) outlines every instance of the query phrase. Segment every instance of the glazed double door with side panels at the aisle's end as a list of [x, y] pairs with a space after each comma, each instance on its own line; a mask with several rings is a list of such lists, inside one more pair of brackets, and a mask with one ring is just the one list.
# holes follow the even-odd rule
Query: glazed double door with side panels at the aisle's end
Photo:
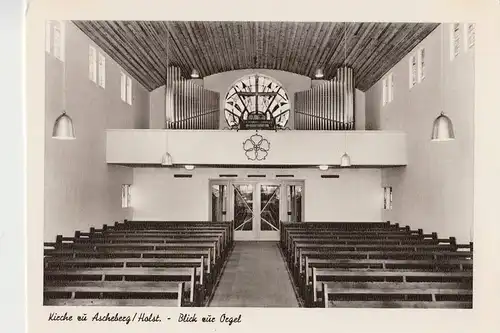
[[300, 181], [211, 181], [211, 220], [234, 221], [236, 240], [279, 240], [280, 221], [303, 218]]

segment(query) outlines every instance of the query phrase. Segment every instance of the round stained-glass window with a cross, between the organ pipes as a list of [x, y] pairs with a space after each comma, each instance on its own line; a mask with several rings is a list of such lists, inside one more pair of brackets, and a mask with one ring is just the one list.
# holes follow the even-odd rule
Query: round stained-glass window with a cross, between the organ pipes
[[290, 102], [276, 80], [253, 74], [238, 80], [226, 94], [226, 122], [231, 128], [245, 128], [245, 121], [265, 119], [276, 128], [283, 128], [290, 117]]

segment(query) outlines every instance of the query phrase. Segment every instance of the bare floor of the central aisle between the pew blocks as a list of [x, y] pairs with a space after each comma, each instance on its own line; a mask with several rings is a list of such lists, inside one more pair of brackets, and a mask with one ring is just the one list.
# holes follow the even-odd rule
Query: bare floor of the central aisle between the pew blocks
[[236, 242], [211, 307], [298, 307], [276, 242]]

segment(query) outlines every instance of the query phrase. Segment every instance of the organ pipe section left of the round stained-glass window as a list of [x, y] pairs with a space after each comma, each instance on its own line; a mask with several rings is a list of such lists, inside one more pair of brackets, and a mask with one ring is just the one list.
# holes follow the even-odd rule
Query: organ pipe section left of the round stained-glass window
[[218, 129], [219, 98], [219, 93], [182, 77], [179, 68], [169, 67], [165, 82], [165, 127]]

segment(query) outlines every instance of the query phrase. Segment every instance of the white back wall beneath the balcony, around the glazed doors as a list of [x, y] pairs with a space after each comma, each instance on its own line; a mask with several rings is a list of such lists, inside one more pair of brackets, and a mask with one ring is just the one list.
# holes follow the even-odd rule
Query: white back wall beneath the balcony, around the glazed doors
[[[192, 178], [174, 178], [174, 173], [192, 173]], [[208, 220], [209, 180], [219, 174], [294, 174], [305, 179], [305, 221], [381, 221], [383, 193], [377, 169], [184, 169], [135, 168], [132, 186], [133, 218], [136, 220]], [[321, 178], [338, 174], [338, 179]]]

